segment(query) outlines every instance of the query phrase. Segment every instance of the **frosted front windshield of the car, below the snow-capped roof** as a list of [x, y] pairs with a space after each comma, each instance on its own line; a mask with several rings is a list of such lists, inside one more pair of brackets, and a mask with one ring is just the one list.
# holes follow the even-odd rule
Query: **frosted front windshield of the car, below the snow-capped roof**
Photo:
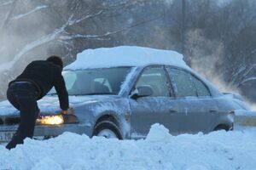
[[[119, 94], [131, 67], [63, 71], [69, 95]], [[55, 88], [49, 94], [56, 94]]]

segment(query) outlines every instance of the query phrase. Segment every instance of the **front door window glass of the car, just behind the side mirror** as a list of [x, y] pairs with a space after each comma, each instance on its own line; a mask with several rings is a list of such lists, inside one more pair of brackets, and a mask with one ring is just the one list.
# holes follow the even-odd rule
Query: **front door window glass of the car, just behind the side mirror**
[[167, 97], [169, 89], [167, 86], [166, 72], [162, 67], [148, 67], [146, 68], [141, 77], [139, 77], [136, 88], [138, 86], [147, 85], [152, 88], [154, 97]]

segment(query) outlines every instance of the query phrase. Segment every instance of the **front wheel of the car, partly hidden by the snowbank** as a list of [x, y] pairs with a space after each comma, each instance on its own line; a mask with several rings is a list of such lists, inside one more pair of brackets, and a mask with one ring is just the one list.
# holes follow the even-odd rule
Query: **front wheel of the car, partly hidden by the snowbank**
[[93, 136], [102, 136], [107, 139], [122, 139], [119, 128], [109, 121], [102, 121], [96, 124]]

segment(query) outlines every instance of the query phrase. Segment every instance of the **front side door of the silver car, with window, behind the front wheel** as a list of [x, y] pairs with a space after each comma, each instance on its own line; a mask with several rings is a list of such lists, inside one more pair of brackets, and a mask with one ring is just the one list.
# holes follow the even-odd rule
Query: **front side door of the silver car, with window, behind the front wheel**
[[177, 104], [170, 95], [170, 85], [166, 76], [163, 66], [150, 66], [138, 77], [135, 88], [150, 86], [153, 95], [130, 99], [132, 139], [145, 137], [154, 123], [164, 125], [171, 133], [183, 131], [183, 117], [177, 114]]

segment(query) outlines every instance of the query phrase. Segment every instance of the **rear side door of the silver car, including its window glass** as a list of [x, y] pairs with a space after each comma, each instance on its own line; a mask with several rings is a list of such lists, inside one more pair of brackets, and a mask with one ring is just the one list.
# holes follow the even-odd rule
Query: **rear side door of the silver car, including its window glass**
[[179, 107], [185, 109], [187, 133], [209, 132], [218, 115], [217, 103], [207, 85], [189, 71], [169, 67]]

